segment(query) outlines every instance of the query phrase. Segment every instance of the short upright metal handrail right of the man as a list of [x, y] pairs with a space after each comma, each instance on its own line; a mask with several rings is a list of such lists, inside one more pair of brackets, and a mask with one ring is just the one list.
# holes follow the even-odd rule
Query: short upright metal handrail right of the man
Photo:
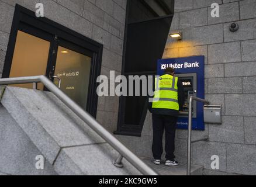
[[188, 112], [188, 167], [186, 169], [186, 175], [191, 175], [191, 131], [192, 131], [192, 103], [193, 101], [199, 101], [209, 105], [210, 102], [205, 99], [196, 98], [191, 96], [189, 99], [189, 112]]

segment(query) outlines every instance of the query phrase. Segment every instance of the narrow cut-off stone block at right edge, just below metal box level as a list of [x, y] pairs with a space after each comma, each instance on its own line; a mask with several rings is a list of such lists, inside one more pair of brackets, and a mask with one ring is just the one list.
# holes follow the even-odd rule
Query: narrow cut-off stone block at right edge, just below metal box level
[[245, 143], [256, 145], [256, 117], [244, 117]]

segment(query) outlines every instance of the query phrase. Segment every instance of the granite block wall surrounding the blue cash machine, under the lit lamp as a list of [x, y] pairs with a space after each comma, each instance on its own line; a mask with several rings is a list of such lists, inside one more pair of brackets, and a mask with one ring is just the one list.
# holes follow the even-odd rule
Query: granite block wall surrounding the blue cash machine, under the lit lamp
[[[212, 3], [219, 4], [219, 18], [210, 15]], [[206, 175], [256, 174], [255, 10], [255, 0], [175, 0], [170, 32], [182, 32], [183, 39], [169, 37], [162, 58], [205, 56], [205, 98], [222, 105], [221, 125], [192, 132], [193, 140], [209, 136], [210, 141], [192, 146], [192, 164], [203, 165]], [[233, 22], [240, 26], [237, 32], [229, 30]], [[119, 138], [152, 158], [150, 113], [142, 134]], [[187, 130], [177, 131], [175, 154], [181, 162], [186, 162], [186, 138]], [[218, 170], [210, 167], [212, 155], [219, 156]]]

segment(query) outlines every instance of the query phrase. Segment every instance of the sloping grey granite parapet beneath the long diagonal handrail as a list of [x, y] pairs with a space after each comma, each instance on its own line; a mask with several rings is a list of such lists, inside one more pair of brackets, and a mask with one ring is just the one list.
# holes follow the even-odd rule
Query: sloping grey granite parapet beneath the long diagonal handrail
[[[0, 173], [8, 175], [141, 175], [53, 93], [1, 87]], [[37, 155], [45, 159], [36, 169]]]

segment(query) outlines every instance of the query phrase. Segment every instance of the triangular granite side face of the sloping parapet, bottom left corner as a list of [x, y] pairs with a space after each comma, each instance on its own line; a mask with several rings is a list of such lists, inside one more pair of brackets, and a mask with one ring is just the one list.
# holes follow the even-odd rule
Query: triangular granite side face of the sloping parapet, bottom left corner
[[7, 110], [0, 106], [0, 171], [11, 175], [57, 175], [48, 160], [36, 169], [42, 155]]

